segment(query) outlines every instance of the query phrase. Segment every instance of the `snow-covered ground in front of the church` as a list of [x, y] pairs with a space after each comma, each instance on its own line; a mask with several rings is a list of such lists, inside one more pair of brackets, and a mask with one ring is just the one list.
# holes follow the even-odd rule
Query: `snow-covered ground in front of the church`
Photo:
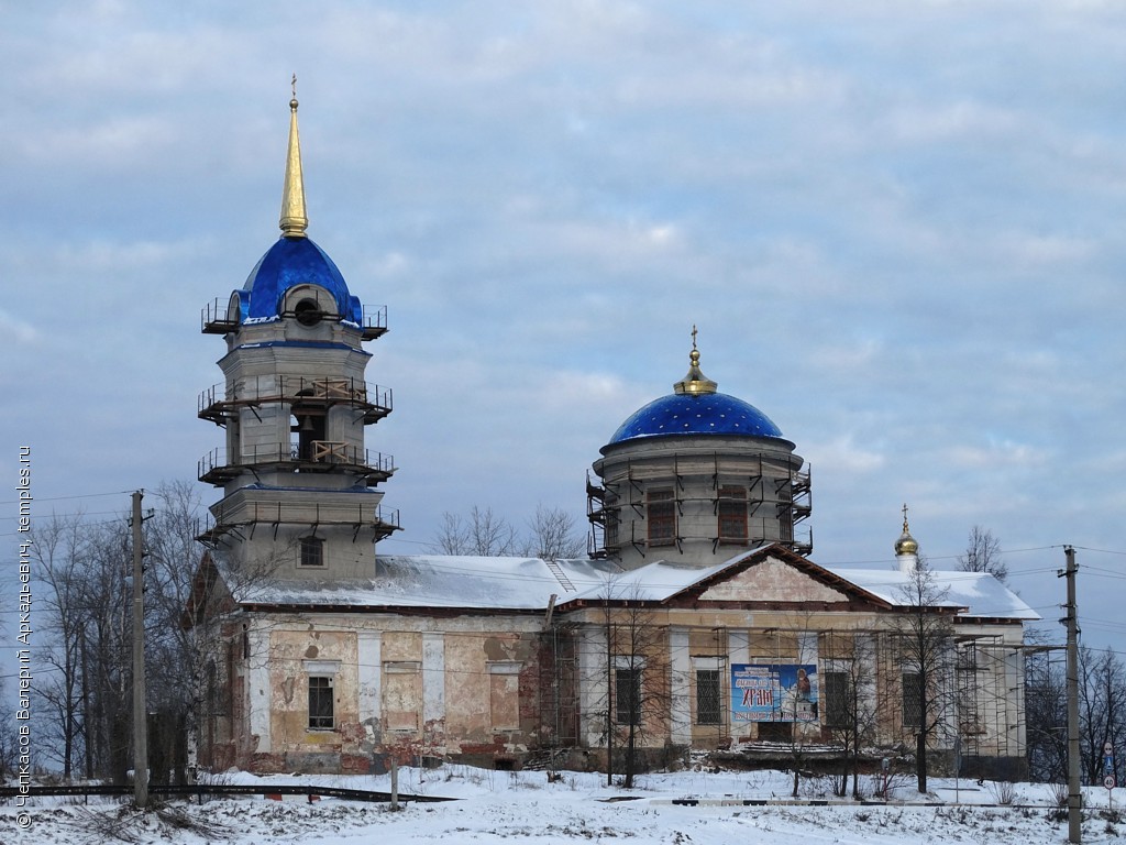
[[[242, 773], [226, 783], [318, 783], [388, 791], [388, 776], [271, 776]], [[605, 776], [562, 773], [548, 783], [543, 772], [493, 772], [445, 766], [400, 772], [400, 791], [461, 800], [406, 803], [392, 812], [385, 804], [304, 798], [284, 801], [261, 797], [211, 800], [204, 806], [175, 801], [159, 812], [140, 815], [105, 799], [89, 804], [71, 799], [38, 799], [32, 825], [20, 829], [17, 810], [0, 808], [0, 843], [554, 843], [620, 845], [742, 845], [801, 842], [803, 845], [893, 845], [897, 843], [1066, 843], [1064, 815], [1053, 809], [1055, 795], [1042, 784], [992, 784], [932, 779], [932, 792], [919, 795], [906, 777], [897, 779], [886, 806], [789, 802], [792, 782], [780, 772], [652, 774], [633, 790], [607, 788]], [[870, 789], [868, 783], [867, 789]], [[1009, 793], [1009, 794], [1007, 794]], [[1011, 803], [1000, 804], [1011, 794]], [[696, 806], [674, 804], [695, 799]], [[747, 799], [777, 799], [765, 807]], [[803, 780], [801, 800], [831, 799], [828, 781]], [[1108, 799], [1112, 803], [1108, 806]], [[937, 807], [912, 806], [938, 802]], [[1117, 843], [1126, 838], [1126, 801], [1120, 790], [1089, 789], [1084, 794], [1083, 842]]]

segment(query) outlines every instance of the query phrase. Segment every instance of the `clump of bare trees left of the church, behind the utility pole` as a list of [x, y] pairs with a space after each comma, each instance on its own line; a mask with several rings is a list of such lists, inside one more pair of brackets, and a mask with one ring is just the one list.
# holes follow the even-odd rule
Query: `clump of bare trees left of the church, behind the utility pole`
[[[52, 671], [36, 684], [38, 746], [53, 754], [64, 776], [84, 767], [87, 777], [123, 783], [129, 767], [133, 719], [150, 723], [150, 767], [159, 783], [170, 772], [185, 782], [188, 740], [199, 726], [205, 700], [220, 683], [223, 614], [231, 602], [217, 593], [249, 597], [268, 584], [286, 555], [200, 567], [196, 543], [196, 486], [173, 481], [146, 497], [153, 517], [144, 524], [144, 638], [149, 676], [144, 713], [133, 713], [132, 555], [127, 521], [93, 523], [81, 515], [42, 519], [32, 551], [43, 585], [43, 659]], [[221, 571], [222, 569], [222, 571]], [[229, 593], [226, 594], [229, 595]]]

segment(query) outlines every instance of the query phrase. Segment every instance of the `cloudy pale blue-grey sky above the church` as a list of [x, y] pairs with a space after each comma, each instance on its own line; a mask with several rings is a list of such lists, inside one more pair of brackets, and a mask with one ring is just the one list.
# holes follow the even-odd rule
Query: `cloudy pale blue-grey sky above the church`
[[991, 530], [1057, 640], [1079, 546], [1085, 640], [1126, 634], [1121, 3], [0, 11], [0, 478], [29, 445], [37, 514], [221, 445], [199, 311], [278, 235], [296, 72], [309, 234], [388, 306], [381, 551], [474, 505], [584, 524], [695, 323], [811, 464], [815, 561], [891, 566], [905, 501], [938, 567]]

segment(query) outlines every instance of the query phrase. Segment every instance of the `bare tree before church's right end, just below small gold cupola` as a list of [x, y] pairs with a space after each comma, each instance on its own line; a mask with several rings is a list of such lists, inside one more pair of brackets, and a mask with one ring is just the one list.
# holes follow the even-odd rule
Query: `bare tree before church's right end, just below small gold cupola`
[[938, 588], [921, 560], [899, 594], [904, 605], [894, 626], [901, 660], [901, 714], [904, 730], [914, 733], [915, 777], [919, 792], [924, 793], [928, 744], [945, 735], [951, 706], [951, 614], [941, 606], [946, 590]]

